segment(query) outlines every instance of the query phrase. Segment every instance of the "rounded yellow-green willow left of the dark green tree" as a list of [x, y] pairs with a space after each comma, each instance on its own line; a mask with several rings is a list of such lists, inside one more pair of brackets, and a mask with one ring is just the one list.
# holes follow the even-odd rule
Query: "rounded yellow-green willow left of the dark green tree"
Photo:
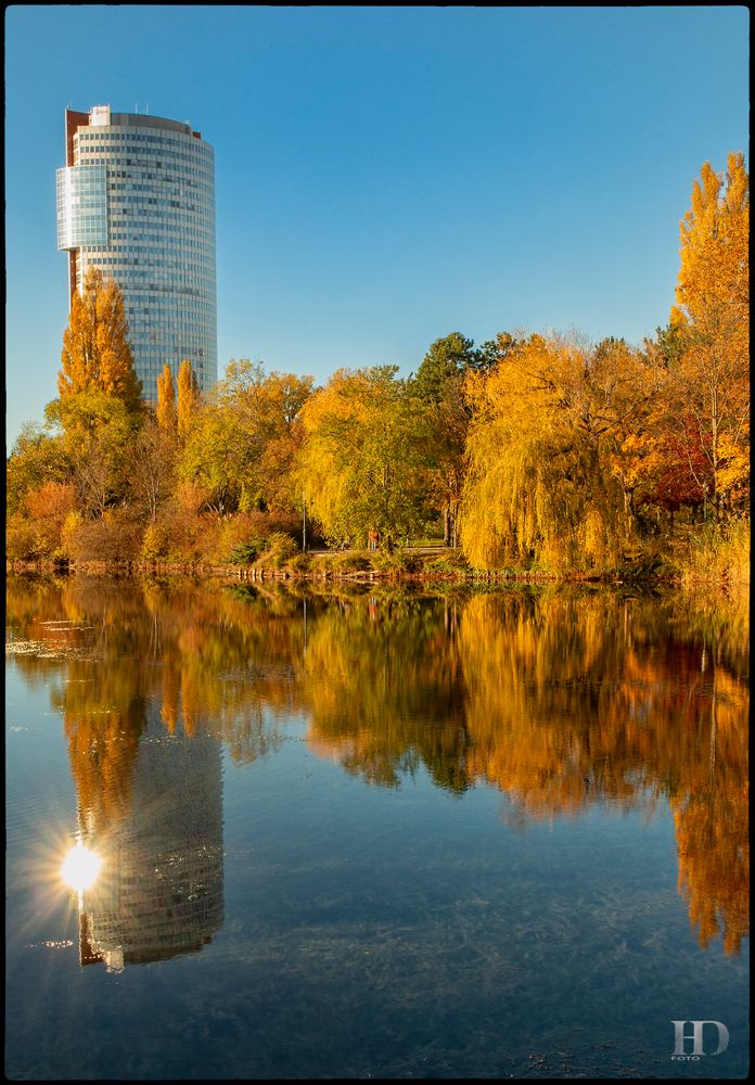
[[338, 370], [302, 411], [297, 476], [331, 542], [391, 550], [420, 525], [417, 405], [395, 366]]

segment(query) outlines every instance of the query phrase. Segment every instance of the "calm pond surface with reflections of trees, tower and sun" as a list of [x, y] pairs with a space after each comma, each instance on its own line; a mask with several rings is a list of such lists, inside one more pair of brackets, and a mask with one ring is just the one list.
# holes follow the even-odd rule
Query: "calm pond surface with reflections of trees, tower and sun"
[[744, 605], [11, 578], [7, 628], [10, 1077], [746, 1075]]

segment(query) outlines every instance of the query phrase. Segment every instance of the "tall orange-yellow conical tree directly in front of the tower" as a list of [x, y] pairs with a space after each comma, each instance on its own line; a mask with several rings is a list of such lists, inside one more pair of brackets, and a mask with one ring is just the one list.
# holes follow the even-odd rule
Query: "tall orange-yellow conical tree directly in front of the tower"
[[138, 410], [142, 386], [133, 369], [123, 294], [99, 268], [89, 269], [82, 292], [74, 294], [61, 360], [61, 400], [104, 392]]

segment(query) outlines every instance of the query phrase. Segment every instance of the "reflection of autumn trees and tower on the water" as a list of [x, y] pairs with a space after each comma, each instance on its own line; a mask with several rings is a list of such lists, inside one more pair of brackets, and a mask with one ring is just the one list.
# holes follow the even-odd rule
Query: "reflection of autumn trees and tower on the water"
[[494, 787], [519, 828], [668, 803], [701, 946], [734, 954], [748, 931], [745, 601], [13, 580], [8, 618], [17, 666], [63, 714], [82, 838], [111, 857], [82, 961], [158, 959], [218, 929], [220, 745], [253, 761], [292, 714], [347, 773]]

